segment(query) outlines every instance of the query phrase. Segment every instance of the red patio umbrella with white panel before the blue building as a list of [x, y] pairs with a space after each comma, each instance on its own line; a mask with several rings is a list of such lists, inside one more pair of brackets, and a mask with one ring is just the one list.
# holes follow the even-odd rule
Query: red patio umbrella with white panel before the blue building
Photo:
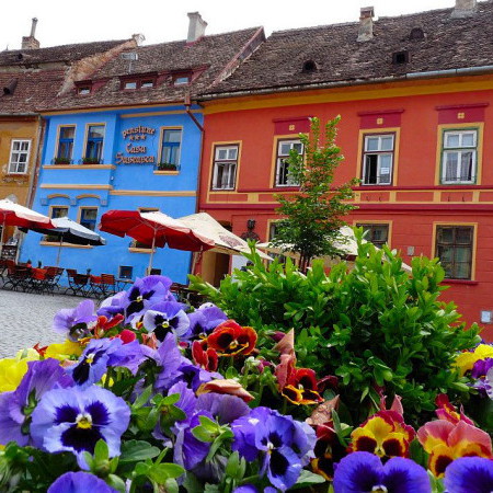
[[101, 217], [100, 230], [130, 237], [151, 246], [149, 272], [156, 246], [199, 252], [213, 249], [211, 238], [195, 232], [184, 222], [163, 213], [139, 213], [138, 210], [108, 210]]

